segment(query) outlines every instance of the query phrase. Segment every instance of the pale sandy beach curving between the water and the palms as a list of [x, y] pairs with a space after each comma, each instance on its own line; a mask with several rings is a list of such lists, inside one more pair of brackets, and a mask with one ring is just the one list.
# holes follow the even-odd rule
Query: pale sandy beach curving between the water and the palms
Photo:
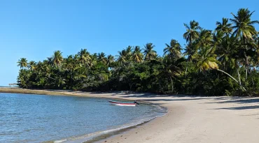
[[[5, 91], [4, 91], [5, 90]], [[0, 88], [0, 92], [10, 92]], [[13, 89], [8, 89], [13, 90]], [[13, 92], [19, 92], [14, 91]], [[167, 107], [168, 113], [99, 142], [258, 143], [259, 98], [158, 96], [148, 93], [34, 92], [139, 100]], [[22, 93], [31, 90], [22, 89]]]

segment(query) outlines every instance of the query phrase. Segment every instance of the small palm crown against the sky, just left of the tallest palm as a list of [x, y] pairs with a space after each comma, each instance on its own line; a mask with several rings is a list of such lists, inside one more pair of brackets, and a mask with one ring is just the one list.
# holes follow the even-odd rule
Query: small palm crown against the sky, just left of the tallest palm
[[223, 31], [225, 35], [229, 35], [232, 32], [232, 24], [228, 23], [228, 18], [222, 18], [222, 22], [216, 22], [216, 31]]

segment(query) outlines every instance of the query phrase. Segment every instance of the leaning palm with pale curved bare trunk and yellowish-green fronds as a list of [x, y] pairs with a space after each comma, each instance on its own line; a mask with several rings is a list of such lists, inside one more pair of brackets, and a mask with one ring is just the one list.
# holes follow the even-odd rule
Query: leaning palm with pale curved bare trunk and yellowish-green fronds
[[[239, 84], [239, 82], [230, 74], [218, 69], [219, 62], [216, 60], [216, 54], [214, 54], [214, 47], [202, 47], [200, 51], [195, 55], [195, 59], [197, 59], [198, 61], [196, 65], [196, 68], [198, 70], [205, 71], [210, 69], [216, 69], [218, 71], [221, 71], [222, 73], [225, 73]], [[239, 86], [241, 86], [241, 88], [243, 88], [244, 91], [246, 91], [244, 86], [242, 86], [241, 84], [239, 84]]]

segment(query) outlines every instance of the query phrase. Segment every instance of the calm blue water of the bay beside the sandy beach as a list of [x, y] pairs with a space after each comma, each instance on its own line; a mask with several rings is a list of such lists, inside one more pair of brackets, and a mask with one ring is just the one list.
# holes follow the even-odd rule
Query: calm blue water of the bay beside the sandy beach
[[115, 106], [108, 100], [0, 93], [0, 142], [84, 142], [166, 112], [145, 104]]

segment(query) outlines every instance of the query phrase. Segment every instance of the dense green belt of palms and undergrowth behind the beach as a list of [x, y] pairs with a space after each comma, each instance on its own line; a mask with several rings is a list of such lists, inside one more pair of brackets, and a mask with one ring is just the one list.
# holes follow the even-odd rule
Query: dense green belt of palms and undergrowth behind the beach
[[[216, 22], [214, 31], [195, 20], [184, 24], [185, 47], [172, 39], [158, 56], [155, 45], [128, 46], [116, 57], [80, 50], [44, 61], [18, 61], [18, 84], [27, 89], [141, 91], [209, 96], [258, 96], [259, 37], [248, 9]], [[183, 52], [183, 53], [182, 53]]]

